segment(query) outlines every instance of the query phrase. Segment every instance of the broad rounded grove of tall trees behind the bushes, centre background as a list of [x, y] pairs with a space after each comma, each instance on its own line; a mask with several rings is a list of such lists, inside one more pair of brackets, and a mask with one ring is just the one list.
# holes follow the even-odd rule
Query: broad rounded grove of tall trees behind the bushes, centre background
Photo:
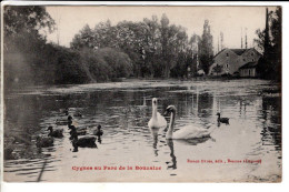
[[[74, 36], [71, 48], [119, 49], [129, 55], [132, 75], [151, 78], [169, 78], [172, 70], [182, 75], [183, 68], [191, 64], [188, 64], [187, 60], [192, 55], [192, 48], [188, 48], [186, 30], [170, 24], [166, 14], [160, 21], [152, 16], [141, 22], [121, 21], [111, 26], [110, 21], [107, 21], [98, 23], [93, 29], [84, 26]], [[181, 71], [176, 71], [177, 69]]]

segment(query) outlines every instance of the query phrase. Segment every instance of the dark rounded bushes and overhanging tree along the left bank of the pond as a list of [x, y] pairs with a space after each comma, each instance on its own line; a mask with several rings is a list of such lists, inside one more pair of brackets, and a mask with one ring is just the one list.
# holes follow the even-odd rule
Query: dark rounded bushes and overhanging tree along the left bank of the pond
[[[16, 16], [20, 17], [19, 21]], [[42, 7], [8, 7], [4, 18], [7, 88], [22, 84], [102, 82], [127, 78], [132, 73], [132, 62], [121, 50], [93, 49], [96, 44], [91, 42], [94, 37], [89, 26], [74, 38], [73, 49], [70, 49], [46, 42], [41, 30], [52, 29], [53, 20], [49, 20], [51, 18]], [[106, 27], [99, 28], [102, 30]]]

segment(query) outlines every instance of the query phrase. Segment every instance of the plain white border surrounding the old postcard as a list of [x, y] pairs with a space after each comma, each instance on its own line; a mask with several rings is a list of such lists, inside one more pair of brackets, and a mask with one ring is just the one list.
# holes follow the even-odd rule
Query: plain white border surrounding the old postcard
[[[24, 4], [41, 4], [41, 6], [62, 6], [62, 4], [70, 4], [70, 6], [282, 6], [282, 98], [288, 97], [288, 88], [286, 84], [289, 83], [289, 77], [286, 75], [289, 72], [289, 60], [288, 60], [288, 52], [289, 52], [289, 41], [288, 41], [288, 21], [289, 21], [289, 2], [258, 2], [258, 1], [248, 1], [248, 2], [227, 2], [227, 1], [218, 1], [218, 2], [166, 2], [166, 1], [157, 1], [157, 2], [132, 2], [132, 1], [4, 1], [1, 2], [3, 4], [17, 4], [17, 6], [24, 6]], [[2, 7], [1, 7], [2, 8]], [[2, 13], [2, 11], [1, 11]], [[2, 19], [2, 17], [1, 17]], [[1, 22], [2, 24], [2, 22]], [[2, 29], [2, 27], [1, 27]], [[1, 46], [2, 48], [2, 46]], [[1, 57], [3, 59], [3, 57]], [[2, 61], [1, 61], [2, 62]], [[3, 73], [2, 64], [1, 64], [1, 75]], [[2, 82], [1, 82], [1, 93], [2, 93]], [[1, 99], [1, 103], [3, 100]], [[1, 182], [1, 190], [3, 192], [10, 191], [20, 191], [20, 192], [33, 192], [33, 191], [43, 191], [43, 192], [51, 192], [51, 191], [166, 191], [166, 192], [176, 192], [176, 191], [232, 191], [232, 192], [253, 192], [253, 191], [262, 191], [262, 192], [281, 192], [288, 191], [289, 186], [289, 179], [288, 179], [288, 125], [289, 119], [287, 118], [288, 112], [286, 109], [289, 108], [289, 102], [282, 99], [282, 183], [6, 183]], [[1, 113], [3, 114], [3, 110], [1, 109]], [[1, 115], [2, 117], [2, 115]], [[2, 122], [1, 122], [2, 128]], [[2, 142], [2, 138], [1, 138]], [[1, 153], [2, 154], [2, 153]], [[2, 158], [2, 156], [1, 156]], [[1, 159], [2, 160], [2, 159]], [[2, 164], [1, 164], [1, 173], [2, 173]], [[285, 190], [287, 189], [287, 190]]]

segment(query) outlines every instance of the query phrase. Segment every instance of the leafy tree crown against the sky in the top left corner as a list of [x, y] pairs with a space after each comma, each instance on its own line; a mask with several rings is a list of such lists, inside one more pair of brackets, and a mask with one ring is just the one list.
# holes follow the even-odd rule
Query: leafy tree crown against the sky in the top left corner
[[39, 50], [46, 43], [43, 31], [52, 32], [56, 24], [40, 6], [6, 6], [3, 21], [4, 50], [10, 51]]

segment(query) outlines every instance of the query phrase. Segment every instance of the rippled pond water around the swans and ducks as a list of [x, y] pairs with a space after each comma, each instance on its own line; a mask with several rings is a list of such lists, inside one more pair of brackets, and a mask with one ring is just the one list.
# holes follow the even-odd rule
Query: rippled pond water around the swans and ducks
[[[279, 88], [262, 80], [232, 81], [133, 81], [62, 87], [32, 87], [6, 94], [4, 148], [13, 149], [4, 160], [4, 180], [24, 182], [276, 182], [281, 178], [281, 101]], [[168, 141], [166, 130], [152, 135], [147, 123], [151, 99], [158, 110], [177, 107], [176, 130], [187, 124], [215, 127], [211, 138]], [[88, 134], [103, 127], [97, 149], [73, 148], [63, 110], [81, 112], [73, 123]], [[230, 124], [217, 123], [217, 112]], [[169, 118], [167, 118], [169, 121]], [[62, 128], [64, 138], [38, 149], [36, 137], [49, 125]], [[261, 163], [228, 163], [261, 160]], [[188, 163], [210, 160], [213, 163]], [[216, 160], [219, 163], [216, 163]], [[161, 170], [134, 170], [136, 166]], [[102, 170], [74, 171], [77, 166]], [[103, 170], [132, 166], [132, 170]]]

